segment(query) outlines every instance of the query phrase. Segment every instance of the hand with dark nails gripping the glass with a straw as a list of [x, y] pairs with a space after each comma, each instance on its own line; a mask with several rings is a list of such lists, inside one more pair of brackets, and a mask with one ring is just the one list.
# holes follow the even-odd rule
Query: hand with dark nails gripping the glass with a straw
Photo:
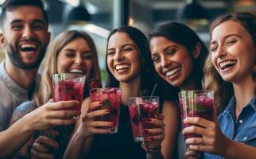
[[146, 122], [157, 126], [157, 128], [145, 129], [145, 134], [148, 137], [145, 138], [143, 144], [146, 149], [153, 149], [161, 146], [161, 142], [165, 138], [165, 123], [163, 121], [164, 115], [157, 114], [155, 118], [147, 118]]

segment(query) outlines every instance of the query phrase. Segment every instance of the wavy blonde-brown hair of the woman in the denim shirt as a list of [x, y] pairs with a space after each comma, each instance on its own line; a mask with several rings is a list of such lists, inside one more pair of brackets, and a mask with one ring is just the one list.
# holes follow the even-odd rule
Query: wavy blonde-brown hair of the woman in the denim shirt
[[[212, 30], [215, 29], [216, 26], [220, 25], [224, 21], [236, 21], [241, 24], [252, 38], [254, 42], [254, 47], [256, 46], [256, 18], [253, 14], [249, 13], [235, 13], [235, 14], [226, 14], [221, 17], [218, 17], [211, 24], [210, 29], [210, 37], [212, 34]], [[256, 66], [254, 60], [254, 68], [252, 68], [252, 77], [254, 79], [255, 84], [255, 76], [256, 75]], [[214, 65], [211, 63], [211, 52], [208, 55], [207, 60], [204, 64], [204, 79], [203, 79], [203, 88], [215, 91], [215, 104], [217, 107], [218, 113], [223, 111], [227, 106], [227, 103], [230, 101], [231, 97], [234, 95], [234, 90], [232, 87], [232, 83], [224, 81], [221, 76], [219, 76], [219, 72], [216, 71]], [[255, 94], [255, 87], [254, 87]]]

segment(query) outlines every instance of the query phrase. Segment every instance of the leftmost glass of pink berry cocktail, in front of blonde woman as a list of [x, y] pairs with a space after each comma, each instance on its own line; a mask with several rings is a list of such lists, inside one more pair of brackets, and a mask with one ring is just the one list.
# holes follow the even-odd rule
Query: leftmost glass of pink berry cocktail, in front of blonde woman
[[[54, 102], [77, 100], [80, 104], [68, 110], [81, 110], [85, 76], [76, 73], [52, 75], [52, 94]], [[79, 116], [74, 117], [79, 119]]]

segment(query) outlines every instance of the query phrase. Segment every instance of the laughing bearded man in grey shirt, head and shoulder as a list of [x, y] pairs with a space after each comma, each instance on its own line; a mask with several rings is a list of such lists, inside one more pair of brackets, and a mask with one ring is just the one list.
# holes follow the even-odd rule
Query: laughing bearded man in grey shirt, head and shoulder
[[32, 99], [51, 35], [41, 0], [6, 0], [1, 29], [6, 59], [0, 64], [0, 131], [8, 128], [15, 107]]

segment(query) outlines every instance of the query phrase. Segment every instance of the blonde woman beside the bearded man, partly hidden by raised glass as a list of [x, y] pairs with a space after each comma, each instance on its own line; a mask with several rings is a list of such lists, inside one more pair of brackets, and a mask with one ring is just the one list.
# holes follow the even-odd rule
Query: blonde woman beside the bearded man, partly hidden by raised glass
[[[34, 95], [34, 100], [22, 103], [17, 107], [14, 111], [12, 122], [17, 121], [24, 114], [37, 109], [37, 107], [52, 99], [51, 76], [60, 72], [80, 73], [84, 74], [87, 80], [90, 78], [100, 80], [95, 44], [87, 33], [71, 30], [61, 33], [52, 41], [45, 56], [45, 63], [42, 66], [41, 84]], [[85, 88], [84, 100], [87, 100], [87, 90]], [[84, 115], [85, 111], [82, 112]], [[48, 135], [52, 135], [56, 141], [40, 136], [33, 144], [32, 156], [61, 158], [74, 127], [74, 125], [61, 127], [59, 131], [62, 132], [48, 130]], [[29, 155], [29, 153], [28, 149], [21, 151], [21, 155]]]

